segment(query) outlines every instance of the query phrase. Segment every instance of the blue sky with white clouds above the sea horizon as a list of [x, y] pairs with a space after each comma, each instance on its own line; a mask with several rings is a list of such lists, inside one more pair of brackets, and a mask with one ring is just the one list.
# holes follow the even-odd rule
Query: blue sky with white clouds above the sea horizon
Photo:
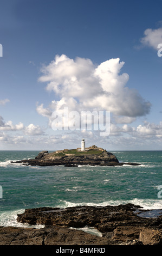
[[0, 150], [162, 150], [161, 0], [0, 4]]

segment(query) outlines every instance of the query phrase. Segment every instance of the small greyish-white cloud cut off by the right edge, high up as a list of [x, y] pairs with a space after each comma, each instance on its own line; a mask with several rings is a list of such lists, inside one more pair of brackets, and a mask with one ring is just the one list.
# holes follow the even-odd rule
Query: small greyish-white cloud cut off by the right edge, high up
[[147, 28], [144, 32], [144, 37], [140, 39], [140, 42], [144, 46], [149, 46], [157, 50], [158, 45], [162, 44], [162, 28]]

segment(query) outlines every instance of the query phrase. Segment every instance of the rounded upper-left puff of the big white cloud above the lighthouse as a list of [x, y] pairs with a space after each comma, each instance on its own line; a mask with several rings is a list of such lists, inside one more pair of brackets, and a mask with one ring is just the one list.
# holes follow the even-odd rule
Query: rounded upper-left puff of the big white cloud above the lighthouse
[[75, 60], [66, 55], [56, 56], [49, 65], [41, 69], [43, 76], [38, 81], [48, 82], [47, 90], [61, 97], [85, 99], [99, 93], [99, 80], [94, 77], [94, 65], [90, 59]]

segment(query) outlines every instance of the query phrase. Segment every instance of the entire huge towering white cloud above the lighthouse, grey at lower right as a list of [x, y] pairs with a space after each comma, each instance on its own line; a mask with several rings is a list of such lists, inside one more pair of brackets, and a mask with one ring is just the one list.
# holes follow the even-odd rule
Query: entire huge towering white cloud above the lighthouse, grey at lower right
[[51, 102], [48, 108], [37, 106], [37, 112], [50, 118], [51, 111], [68, 106], [79, 112], [105, 110], [129, 118], [148, 114], [151, 103], [137, 90], [126, 87], [129, 76], [120, 74], [124, 64], [119, 58], [95, 65], [90, 59], [56, 56], [49, 65], [42, 66], [38, 81], [46, 82], [46, 89], [60, 100]]

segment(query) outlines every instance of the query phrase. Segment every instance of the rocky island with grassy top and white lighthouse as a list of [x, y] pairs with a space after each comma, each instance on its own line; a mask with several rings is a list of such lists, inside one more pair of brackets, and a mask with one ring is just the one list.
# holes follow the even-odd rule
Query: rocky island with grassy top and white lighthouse
[[[82, 140], [83, 143], [85, 141]], [[56, 150], [52, 153], [41, 151], [35, 159], [11, 161], [11, 163], [22, 163], [31, 166], [58, 166], [78, 167], [78, 166], [123, 166], [124, 164], [138, 166], [140, 163], [119, 162], [116, 156], [106, 149], [92, 145], [85, 148]]]

